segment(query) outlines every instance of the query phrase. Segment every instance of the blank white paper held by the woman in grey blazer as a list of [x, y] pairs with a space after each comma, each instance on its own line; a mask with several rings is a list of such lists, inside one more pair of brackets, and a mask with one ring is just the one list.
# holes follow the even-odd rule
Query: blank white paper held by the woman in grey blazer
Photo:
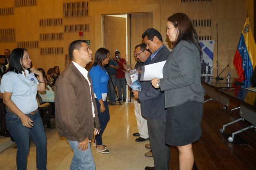
[[140, 81], [151, 81], [152, 78], [163, 78], [163, 67], [166, 61], [156, 62], [141, 67]]

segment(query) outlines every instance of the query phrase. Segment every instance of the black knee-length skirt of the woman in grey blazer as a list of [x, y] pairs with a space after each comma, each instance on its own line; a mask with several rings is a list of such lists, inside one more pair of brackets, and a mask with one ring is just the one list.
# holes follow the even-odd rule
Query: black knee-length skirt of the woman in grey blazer
[[203, 104], [197, 101], [167, 108], [166, 144], [184, 146], [199, 140], [202, 114]]

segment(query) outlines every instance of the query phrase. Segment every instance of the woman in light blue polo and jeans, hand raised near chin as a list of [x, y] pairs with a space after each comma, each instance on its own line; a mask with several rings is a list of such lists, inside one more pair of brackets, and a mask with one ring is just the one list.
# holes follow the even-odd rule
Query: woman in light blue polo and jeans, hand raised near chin
[[[32, 138], [36, 145], [36, 166], [38, 170], [46, 170], [46, 136], [36, 101], [37, 91], [45, 91], [45, 84], [42, 72], [30, 68], [31, 65], [26, 49], [12, 50], [9, 68], [1, 80], [0, 92], [8, 108], [6, 126], [18, 147], [17, 169], [26, 170], [29, 142]], [[34, 74], [39, 76], [39, 80]]]

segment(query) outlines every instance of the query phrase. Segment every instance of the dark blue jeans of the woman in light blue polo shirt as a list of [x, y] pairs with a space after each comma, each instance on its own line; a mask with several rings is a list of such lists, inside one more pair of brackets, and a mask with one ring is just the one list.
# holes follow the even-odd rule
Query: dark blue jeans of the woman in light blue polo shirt
[[18, 147], [16, 156], [17, 169], [26, 170], [30, 138], [32, 138], [36, 145], [36, 167], [38, 170], [46, 170], [46, 136], [42, 119], [39, 112], [36, 112], [34, 115], [28, 115], [28, 117], [34, 121], [32, 122], [34, 125], [32, 128], [23, 126], [16, 114], [10, 112], [6, 114], [7, 129]]

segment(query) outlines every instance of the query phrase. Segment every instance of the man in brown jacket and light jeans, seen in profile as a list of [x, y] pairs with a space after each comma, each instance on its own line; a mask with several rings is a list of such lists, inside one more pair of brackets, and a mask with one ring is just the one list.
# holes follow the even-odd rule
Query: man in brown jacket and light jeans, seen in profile
[[91, 79], [85, 69], [92, 61], [92, 51], [84, 40], [71, 42], [68, 51], [72, 62], [54, 86], [56, 128], [74, 151], [70, 170], [95, 170], [90, 140], [93, 134], [99, 134], [100, 124]]

